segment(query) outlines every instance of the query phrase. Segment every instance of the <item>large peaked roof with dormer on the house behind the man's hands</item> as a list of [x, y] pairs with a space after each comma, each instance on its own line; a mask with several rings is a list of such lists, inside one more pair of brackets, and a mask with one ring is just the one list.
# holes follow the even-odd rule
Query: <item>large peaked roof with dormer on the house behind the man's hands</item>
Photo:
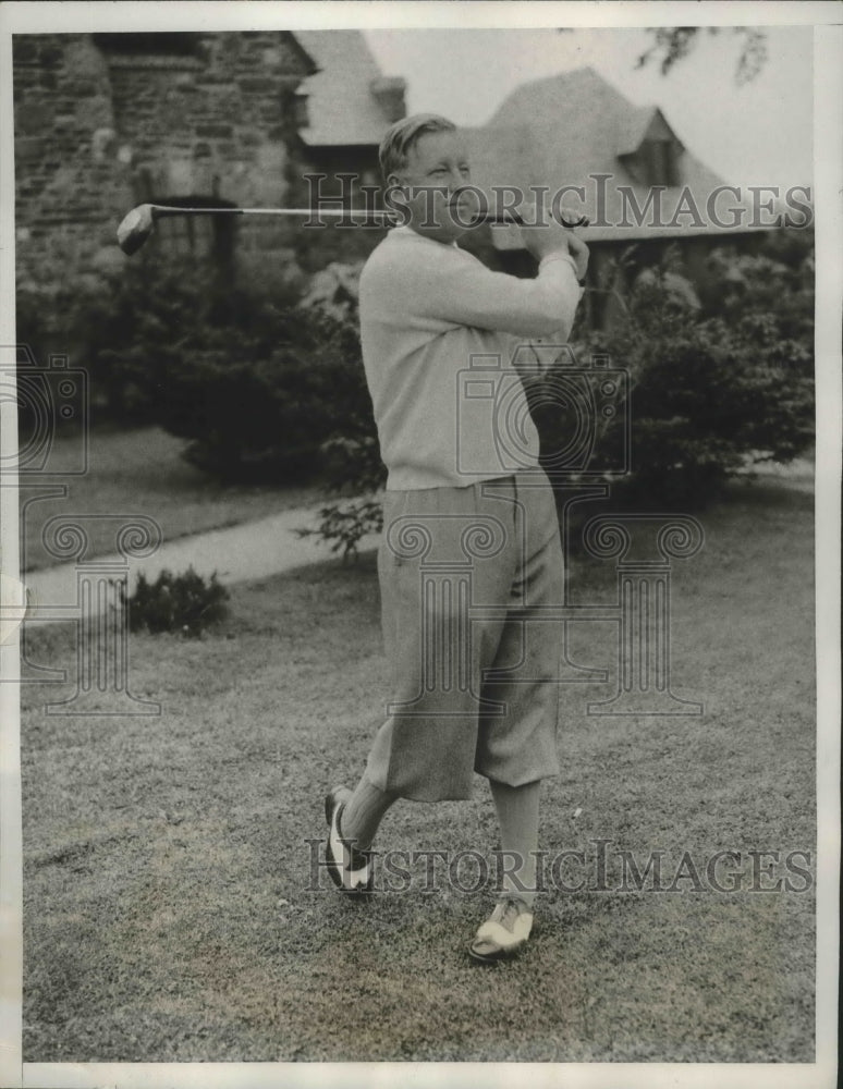
[[[648, 185], [637, 182], [630, 172], [631, 156], [646, 137], [671, 139], [677, 150], [679, 185], [667, 189], [662, 207], [670, 219], [680, 192], [687, 186], [702, 218], [710, 192], [723, 181], [693, 156], [676, 136], [661, 110], [634, 106], [607, 83], [594, 69], [578, 69], [523, 84], [504, 100], [481, 129], [463, 133], [472, 161], [472, 181], [486, 192], [494, 185], [514, 185], [529, 191], [548, 186], [552, 195], [562, 186], [583, 186], [585, 200], [570, 193], [563, 203], [582, 211], [595, 222], [600, 218], [600, 187], [592, 175], [610, 175], [604, 183], [602, 220], [615, 224], [623, 218], [619, 185], [628, 186], [639, 208], [646, 208], [651, 194]], [[721, 215], [722, 215], [721, 209]], [[586, 229], [584, 237], [611, 238], [667, 237], [669, 234], [712, 234], [711, 225], [689, 227], [683, 217], [672, 231], [648, 225], [604, 225]], [[722, 229], [721, 229], [722, 230]], [[520, 248], [517, 232], [496, 230], [500, 249]]]

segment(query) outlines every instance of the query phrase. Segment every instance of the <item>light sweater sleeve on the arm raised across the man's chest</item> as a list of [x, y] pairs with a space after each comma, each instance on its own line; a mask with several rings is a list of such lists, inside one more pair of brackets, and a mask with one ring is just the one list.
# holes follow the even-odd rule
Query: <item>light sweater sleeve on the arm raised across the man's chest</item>
[[419, 316], [516, 337], [554, 333], [567, 340], [582, 296], [567, 255], [549, 255], [535, 279], [522, 280], [492, 272], [468, 254], [451, 253], [453, 257], [448, 254], [418, 269], [424, 282], [414, 292], [414, 309]]

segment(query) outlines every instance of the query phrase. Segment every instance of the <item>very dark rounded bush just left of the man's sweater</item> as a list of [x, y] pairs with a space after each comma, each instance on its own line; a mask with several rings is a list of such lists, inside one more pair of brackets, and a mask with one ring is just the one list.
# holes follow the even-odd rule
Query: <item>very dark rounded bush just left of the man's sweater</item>
[[207, 327], [180, 353], [159, 421], [190, 439], [188, 460], [220, 478], [307, 477], [330, 439], [367, 432], [355, 322], [319, 308], [272, 308], [246, 335]]

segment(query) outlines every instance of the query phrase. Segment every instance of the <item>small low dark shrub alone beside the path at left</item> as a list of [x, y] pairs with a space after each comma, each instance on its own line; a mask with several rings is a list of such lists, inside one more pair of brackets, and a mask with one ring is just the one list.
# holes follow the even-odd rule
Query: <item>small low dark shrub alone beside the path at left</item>
[[216, 572], [206, 582], [192, 566], [183, 575], [162, 571], [154, 583], [142, 572], [129, 599], [129, 626], [132, 632], [179, 632], [197, 638], [207, 627], [224, 620], [228, 599], [229, 591], [218, 582]]

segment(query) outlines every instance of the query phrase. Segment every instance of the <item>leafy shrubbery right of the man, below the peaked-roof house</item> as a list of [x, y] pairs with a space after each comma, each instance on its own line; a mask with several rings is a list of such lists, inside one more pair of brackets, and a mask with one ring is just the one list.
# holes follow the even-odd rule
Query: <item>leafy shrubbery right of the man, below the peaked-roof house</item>
[[747, 462], [787, 462], [813, 441], [813, 255], [787, 265], [714, 250], [701, 306], [672, 290], [676, 269], [673, 252], [639, 276], [623, 319], [577, 354], [604, 353], [630, 375], [631, 404], [604, 439], [615, 449], [630, 427], [632, 473], [614, 495], [699, 506]]

